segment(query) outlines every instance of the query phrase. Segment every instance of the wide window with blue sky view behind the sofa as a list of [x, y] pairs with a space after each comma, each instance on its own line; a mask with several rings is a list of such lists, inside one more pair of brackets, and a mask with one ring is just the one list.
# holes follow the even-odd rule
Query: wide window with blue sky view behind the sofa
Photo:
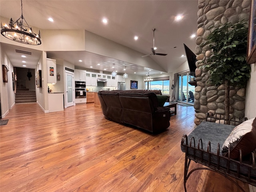
[[145, 88], [148, 90], [161, 90], [163, 95], [169, 95], [170, 80], [145, 82]]

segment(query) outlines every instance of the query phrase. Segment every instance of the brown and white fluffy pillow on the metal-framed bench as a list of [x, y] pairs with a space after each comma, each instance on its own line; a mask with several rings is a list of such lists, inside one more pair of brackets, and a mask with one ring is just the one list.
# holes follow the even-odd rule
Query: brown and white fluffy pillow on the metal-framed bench
[[247, 120], [236, 126], [222, 146], [222, 155], [228, 157], [230, 148], [230, 158], [236, 159], [252, 152], [256, 148], [256, 118]]

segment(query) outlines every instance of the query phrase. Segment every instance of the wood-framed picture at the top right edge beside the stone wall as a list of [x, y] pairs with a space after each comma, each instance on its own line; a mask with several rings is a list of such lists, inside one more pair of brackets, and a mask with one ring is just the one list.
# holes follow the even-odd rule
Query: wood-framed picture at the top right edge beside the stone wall
[[250, 20], [248, 26], [247, 63], [256, 62], [256, 0], [251, 1]]

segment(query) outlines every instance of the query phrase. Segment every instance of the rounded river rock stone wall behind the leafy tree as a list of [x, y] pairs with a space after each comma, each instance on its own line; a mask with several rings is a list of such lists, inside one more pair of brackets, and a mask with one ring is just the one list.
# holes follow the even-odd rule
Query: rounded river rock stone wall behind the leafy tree
[[[212, 115], [225, 114], [225, 85], [218, 87], [210, 85], [208, 77], [210, 73], [204, 68], [199, 68], [203, 64], [200, 62], [211, 55], [208, 46], [200, 46], [211, 33], [210, 26], [225, 24], [226, 22], [236, 23], [240, 20], [249, 20], [251, 0], [198, 0], [198, 30], [196, 38], [197, 55], [195, 88], [195, 124], [198, 125], [206, 119], [206, 113]], [[245, 109], [245, 89], [230, 87], [230, 117], [244, 117]]]

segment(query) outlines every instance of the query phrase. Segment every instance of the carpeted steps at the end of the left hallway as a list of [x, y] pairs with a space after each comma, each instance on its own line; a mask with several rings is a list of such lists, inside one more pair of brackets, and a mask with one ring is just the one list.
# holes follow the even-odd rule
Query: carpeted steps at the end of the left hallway
[[15, 94], [15, 103], [33, 102], [36, 102], [36, 91], [30, 91], [27, 88], [17, 88]]

